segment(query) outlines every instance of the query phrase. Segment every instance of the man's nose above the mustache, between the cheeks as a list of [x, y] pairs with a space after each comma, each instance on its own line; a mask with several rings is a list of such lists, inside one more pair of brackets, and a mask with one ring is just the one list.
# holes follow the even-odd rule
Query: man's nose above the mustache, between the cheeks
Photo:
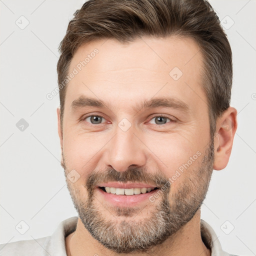
[[116, 171], [125, 171], [129, 166], [140, 167], [146, 163], [146, 146], [132, 128], [126, 131], [116, 127], [115, 135], [107, 143], [104, 163]]

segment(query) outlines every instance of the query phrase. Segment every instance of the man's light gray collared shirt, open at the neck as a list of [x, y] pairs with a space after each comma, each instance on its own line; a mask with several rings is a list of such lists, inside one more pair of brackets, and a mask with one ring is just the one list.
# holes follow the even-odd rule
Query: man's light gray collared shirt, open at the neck
[[[2, 256], [66, 256], [65, 237], [76, 228], [77, 217], [71, 217], [59, 223], [51, 236], [33, 240], [24, 240], [0, 244]], [[236, 256], [222, 250], [220, 242], [204, 220], [200, 220], [201, 238], [205, 246], [211, 248], [211, 256]]]

